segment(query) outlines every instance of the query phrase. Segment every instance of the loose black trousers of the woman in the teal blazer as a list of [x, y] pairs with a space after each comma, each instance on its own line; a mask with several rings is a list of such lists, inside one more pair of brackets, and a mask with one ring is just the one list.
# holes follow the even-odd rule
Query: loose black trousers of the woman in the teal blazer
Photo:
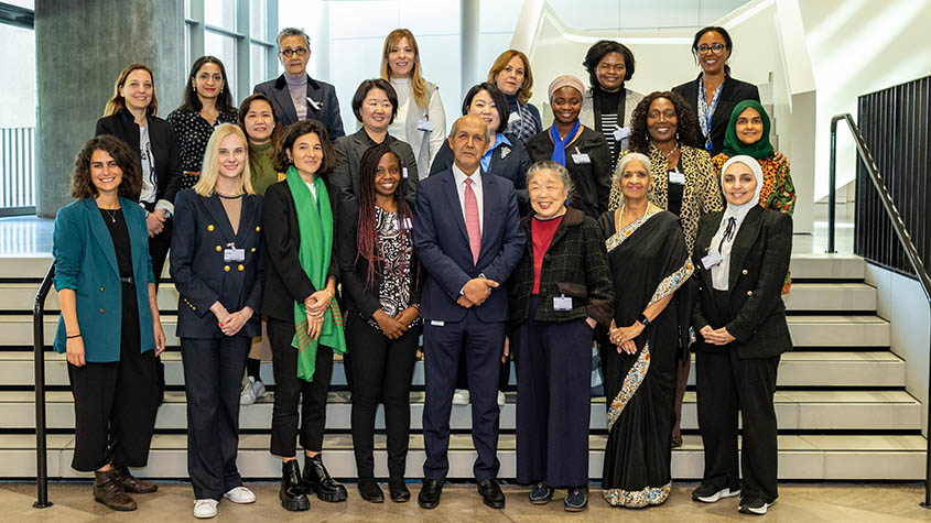
[[159, 408], [155, 351], [140, 353], [137, 338], [121, 344], [119, 361], [68, 363], [68, 380], [75, 411], [72, 468], [144, 467]]

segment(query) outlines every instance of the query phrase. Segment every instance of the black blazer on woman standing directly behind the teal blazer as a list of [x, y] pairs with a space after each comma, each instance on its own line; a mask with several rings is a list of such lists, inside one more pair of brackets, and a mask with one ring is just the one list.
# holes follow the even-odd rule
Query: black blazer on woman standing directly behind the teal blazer
[[[171, 123], [159, 117], [150, 116], [148, 120], [149, 141], [152, 144], [152, 155], [155, 156], [155, 176], [158, 177], [155, 201], [163, 199], [174, 205], [174, 198], [181, 190], [181, 155], [174, 130]], [[139, 126], [128, 110], [123, 109], [116, 115], [97, 120], [94, 135], [101, 134], [119, 138], [139, 156]]]

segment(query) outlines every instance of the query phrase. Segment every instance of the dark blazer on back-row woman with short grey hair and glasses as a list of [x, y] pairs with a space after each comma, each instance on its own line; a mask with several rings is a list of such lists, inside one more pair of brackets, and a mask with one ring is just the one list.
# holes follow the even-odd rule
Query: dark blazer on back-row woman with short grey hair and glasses
[[[288, 81], [284, 75], [273, 80], [263, 81], [256, 86], [255, 92], [266, 95], [274, 106], [274, 113], [281, 120], [282, 129], [297, 121], [297, 109], [291, 100], [291, 91], [288, 90]], [[345, 137], [343, 130], [343, 117], [339, 116], [339, 100], [336, 98], [336, 88], [326, 81], [320, 81], [307, 75], [307, 98], [320, 105], [320, 109], [307, 103], [307, 118], [320, 120], [329, 132], [329, 139], [336, 140]]]

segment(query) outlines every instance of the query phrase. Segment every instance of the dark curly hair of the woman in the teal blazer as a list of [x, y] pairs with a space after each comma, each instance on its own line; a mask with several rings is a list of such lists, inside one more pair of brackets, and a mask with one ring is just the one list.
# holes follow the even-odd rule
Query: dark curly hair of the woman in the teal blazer
[[99, 195], [97, 187], [94, 185], [94, 179], [90, 177], [90, 157], [94, 155], [94, 151], [105, 151], [117, 161], [117, 165], [122, 171], [119, 195], [138, 201], [139, 194], [142, 192], [142, 164], [139, 155], [132, 152], [126, 142], [109, 134], [91, 138], [77, 153], [77, 157], [74, 160], [74, 171], [72, 171], [72, 197], [90, 199]]

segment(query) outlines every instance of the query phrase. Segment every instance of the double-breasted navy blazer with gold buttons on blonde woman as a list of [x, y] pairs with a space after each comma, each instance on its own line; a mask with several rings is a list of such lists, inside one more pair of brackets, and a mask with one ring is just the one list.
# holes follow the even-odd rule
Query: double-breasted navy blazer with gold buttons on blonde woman
[[[251, 307], [255, 314], [236, 336], [261, 336], [259, 313], [266, 266], [262, 197], [242, 196], [236, 233], [217, 194], [204, 197], [194, 189], [182, 190], [175, 200], [175, 217], [171, 276], [178, 293], [177, 336], [223, 338], [210, 312], [215, 302], [230, 313]], [[245, 261], [224, 260], [229, 243], [245, 251]]]

